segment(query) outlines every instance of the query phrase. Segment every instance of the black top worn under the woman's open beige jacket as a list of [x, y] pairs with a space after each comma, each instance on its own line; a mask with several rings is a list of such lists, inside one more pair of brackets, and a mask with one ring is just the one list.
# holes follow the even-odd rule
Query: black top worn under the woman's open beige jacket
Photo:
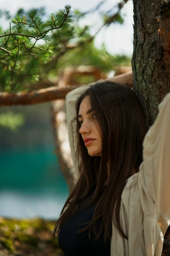
[[[94, 193], [92, 189], [90, 195]], [[90, 196], [89, 195], [89, 196]], [[94, 231], [91, 229], [91, 240], [89, 240], [89, 229], [78, 234], [76, 231], [87, 226], [79, 225], [86, 221], [92, 220], [95, 202], [84, 211], [77, 213], [68, 219], [60, 229], [58, 236], [58, 244], [64, 252], [64, 256], [110, 256], [110, 242], [104, 243], [104, 229], [97, 241], [94, 242]], [[96, 222], [97, 234], [100, 230], [102, 217]], [[109, 227], [109, 234], [112, 235], [112, 223]]]

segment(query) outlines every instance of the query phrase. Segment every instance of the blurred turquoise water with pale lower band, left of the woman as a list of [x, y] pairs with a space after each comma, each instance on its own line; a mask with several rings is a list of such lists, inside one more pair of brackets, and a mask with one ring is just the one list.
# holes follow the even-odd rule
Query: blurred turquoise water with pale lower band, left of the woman
[[68, 190], [53, 151], [0, 150], [0, 216], [58, 218]]

